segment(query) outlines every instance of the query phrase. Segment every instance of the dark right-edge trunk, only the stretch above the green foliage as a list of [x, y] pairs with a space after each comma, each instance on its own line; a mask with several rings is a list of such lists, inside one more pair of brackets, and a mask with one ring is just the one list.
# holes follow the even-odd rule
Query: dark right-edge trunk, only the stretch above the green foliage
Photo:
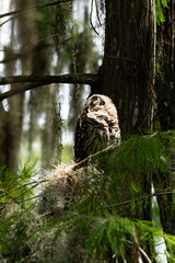
[[175, 128], [175, 2], [164, 9], [165, 22], [158, 26], [156, 80], [158, 116], [162, 130]]

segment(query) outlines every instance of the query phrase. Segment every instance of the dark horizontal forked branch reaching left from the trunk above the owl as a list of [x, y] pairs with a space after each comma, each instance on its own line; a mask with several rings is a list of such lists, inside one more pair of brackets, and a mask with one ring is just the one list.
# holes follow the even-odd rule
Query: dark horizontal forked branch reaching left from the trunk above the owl
[[42, 85], [51, 83], [78, 83], [78, 84], [94, 84], [97, 82], [98, 76], [93, 73], [68, 73], [61, 76], [12, 76], [0, 77], [0, 85], [12, 83], [25, 83], [16, 89], [3, 92], [0, 94], [0, 101], [12, 95], [19, 94], [26, 90], [36, 89]]

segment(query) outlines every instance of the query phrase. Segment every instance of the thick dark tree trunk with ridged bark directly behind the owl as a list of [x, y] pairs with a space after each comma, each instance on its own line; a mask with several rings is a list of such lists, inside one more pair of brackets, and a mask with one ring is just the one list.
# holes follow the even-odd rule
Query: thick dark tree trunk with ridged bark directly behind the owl
[[154, 2], [105, 3], [105, 50], [96, 91], [116, 104], [122, 135], [151, 129], [156, 107]]

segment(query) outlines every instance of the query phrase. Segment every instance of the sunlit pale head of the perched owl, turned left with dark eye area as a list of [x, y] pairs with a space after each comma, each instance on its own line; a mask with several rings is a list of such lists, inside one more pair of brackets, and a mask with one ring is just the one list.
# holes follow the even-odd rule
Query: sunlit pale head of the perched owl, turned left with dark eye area
[[84, 105], [85, 112], [107, 111], [116, 112], [116, 107], [112, 100], [106, 95], [94, 94], [90, 96]]

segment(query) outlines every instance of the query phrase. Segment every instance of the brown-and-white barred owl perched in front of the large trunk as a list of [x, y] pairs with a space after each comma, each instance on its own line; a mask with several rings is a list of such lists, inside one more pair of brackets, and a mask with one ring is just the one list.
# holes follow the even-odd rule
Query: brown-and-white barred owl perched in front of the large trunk
[[118, 116], [112, 100], [100, 94], [89, 98], [77, 124], [74, 161], [85, 159], [105, 148], [110, 140], [119, 138]]

